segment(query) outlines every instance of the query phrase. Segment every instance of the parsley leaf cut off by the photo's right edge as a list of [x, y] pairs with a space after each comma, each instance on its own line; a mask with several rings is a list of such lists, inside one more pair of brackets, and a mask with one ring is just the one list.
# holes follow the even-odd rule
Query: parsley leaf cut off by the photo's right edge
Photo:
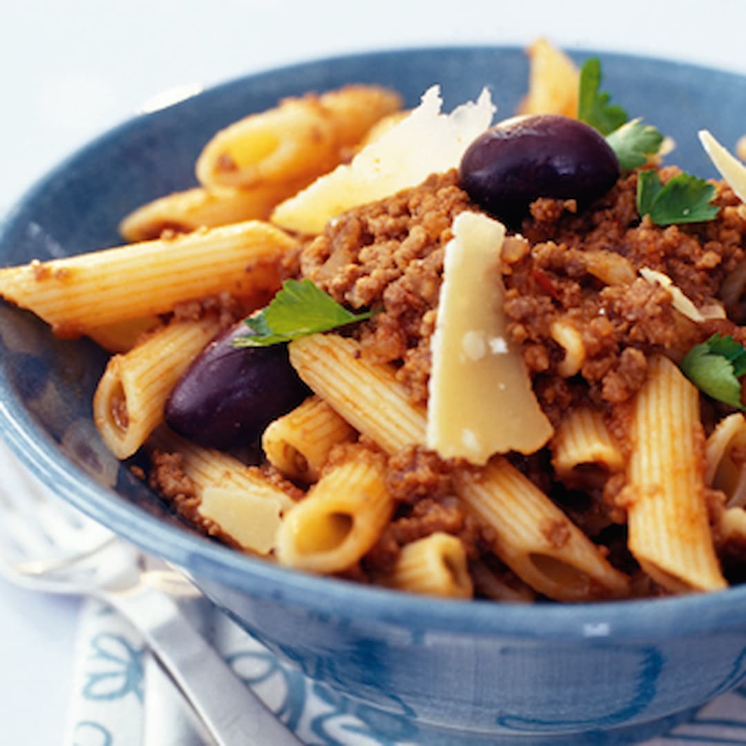
[[700, 391], [713, 399], [746, 410], [741, 404], [739, 377], [746, 373], [746, 348], [732, 336], [713, 334], [695, 345], [681, 361], [680, 368]]

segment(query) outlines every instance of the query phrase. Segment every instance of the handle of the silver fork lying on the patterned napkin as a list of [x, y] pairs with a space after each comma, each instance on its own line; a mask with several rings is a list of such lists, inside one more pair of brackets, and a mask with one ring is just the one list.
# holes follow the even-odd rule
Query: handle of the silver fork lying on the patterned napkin
[[108, 598], [142, 631], [218, 746], [301, 742], [189, 624], [172, 598], [141, 583]]

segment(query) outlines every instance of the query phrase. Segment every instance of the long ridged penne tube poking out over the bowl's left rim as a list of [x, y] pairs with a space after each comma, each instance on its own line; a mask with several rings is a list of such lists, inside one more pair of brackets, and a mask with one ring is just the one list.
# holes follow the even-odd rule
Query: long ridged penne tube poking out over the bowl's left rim
[[278, 228], [248, 221], [0, 269], [0, 296], [34, 311], [57, 335], [79, 336], [221, 292], [277, 289], [280, 261], [294, 246]]

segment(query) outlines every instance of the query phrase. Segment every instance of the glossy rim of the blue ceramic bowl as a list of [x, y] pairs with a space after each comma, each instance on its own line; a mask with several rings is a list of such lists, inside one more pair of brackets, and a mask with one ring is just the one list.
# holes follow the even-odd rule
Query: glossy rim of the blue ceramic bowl
[[[699, 63], [681, 62], [666, 57], [563, 47], [571, 56], [598, 54], [617, 61], [638, 60], [664, 66], [712, 72], [746, 81], [746, 75]], [[443, 51], [524, 52], [518, 45], [440, 45], [412, 46], [362, 51], [319, 57], [283, 66], [237, 75], [205, 87], [182, 101], [152, 112], [137, 113], [107, 129], [65, 157], [43, 175], [10, 207], [0, 222], [0, 249], [14, 223], [69, 166], [95, 153], [108, 142], [117, 140], [131, 128], [142, 126], [160, 111], [173, 110], [208, 95], [222, 95], [236, 86], [292, 72], [307, 66], [334, 64], [345, 60], [367, 59], [410, 54], [439, 54]], [[2, 371], [0, 369], [0, 374]], [[54, 440], [43, 433], [22, 410], [19, 401], [10, 396], [0, 377], [0, 436], [37, 477], [57, 494], [91, 518], [115, 530], [120, 536], [145, 551], [157, 552], [199, 584], [200, 579], [228, 586], [257, 598], [273, 598], [284, 604], [325, 613], [348, 616], [354, 610], [355, 620], [397, 627], [421, 627], [468, 636], [501, 636], [554, 641], [587, 640], [602, 642], [642, 641], [659, 638], [662, 633], [701, 633], [746, 630], [746, 583], [719, 592], [679, 595], [670, 598], [602, 601], [583, 604], [519, 604], [482, 600], [445, 600], [406, 594], [378, 586], [365, 586], [333, 577], [290, 570], [267, 560], [241, 554], [210, 539], [196, 536], [180, 527], [166, 524], [127, 501], [111, 499], [110, 492], [93, 477], [63, 456]], [[114, 493], [116, 495], [116, 493]]]

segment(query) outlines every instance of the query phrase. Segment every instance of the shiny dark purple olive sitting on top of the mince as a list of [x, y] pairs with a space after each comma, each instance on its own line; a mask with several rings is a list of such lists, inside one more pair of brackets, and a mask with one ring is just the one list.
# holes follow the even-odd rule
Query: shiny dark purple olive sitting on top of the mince
[[619, 163], [594, 128], [559, 114], [506, 119], [469, 145], [460, 184], [492, 216], [519, 225], [539, 197], [577, 199], [604, 195], [619, 178]]

